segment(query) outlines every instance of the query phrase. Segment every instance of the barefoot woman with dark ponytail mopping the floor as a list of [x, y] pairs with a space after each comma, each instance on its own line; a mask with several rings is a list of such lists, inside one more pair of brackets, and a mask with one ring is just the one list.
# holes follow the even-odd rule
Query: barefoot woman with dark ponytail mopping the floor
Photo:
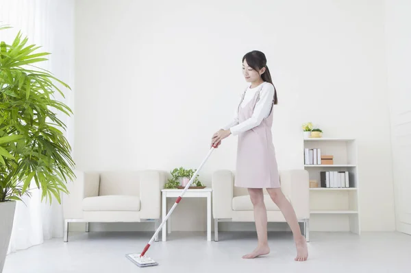
[[269, 254], [267, 241], [267, 215], [262, 189], [282, 211], [297, 247], [295, 261], [306, 261], [306, 239], [301, 235], [297, 216], [282, 193], [271, 134], [273, 105], [277, 104], [277, 91], [273, 86], [266, 57], [261, 51], [251, 51], [242, 58], [245, 80], [251, 85], [242, 94], [234, 120], [212, 136], [212, 145], [219, 147], [230, 134], [238, 135], [236, 187], [246, 187], [253, 203], [258, 246], [242, 258], [252, 259]]

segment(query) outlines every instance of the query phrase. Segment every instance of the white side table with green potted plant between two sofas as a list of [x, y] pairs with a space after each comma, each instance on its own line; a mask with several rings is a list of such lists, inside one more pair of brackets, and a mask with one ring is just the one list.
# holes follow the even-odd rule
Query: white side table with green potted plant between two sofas
[[[167, 198], [178, 198], [183, 192], [183, 189], [162, 189], [162, 220], [166, 219], [167, 215]], [[204, 189], [188, 189], [184, 193], [184, 198], [207, 198], [207, 241], [211, 241], [211, 188]], [[175, 211], [173, 211], [175, 213]], [[167, 220], [167, 223], [162, 227], [162, 241], [166, 241], [167, 226], [169, 233], [171, 232], [171, 217]]]

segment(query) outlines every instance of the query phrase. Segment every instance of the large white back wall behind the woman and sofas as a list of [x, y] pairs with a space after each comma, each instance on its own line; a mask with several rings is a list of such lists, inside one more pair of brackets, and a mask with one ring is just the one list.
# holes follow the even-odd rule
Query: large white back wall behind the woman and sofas
[[[357, 138], [362, 228], [395, 229], [384, 1], [194, 2], [76, 1], [79, 169], [196, 168], [246, 86], [242, 56], [259, 49], [278, 92], [279, 167], [302, 167], [306, 121]], [[234, 169], [235, 156], [230, 137], [201, 180]], [[181, 203], [173, 229], [204, 230], [205, 213], [193, 211], [204, 205]]]

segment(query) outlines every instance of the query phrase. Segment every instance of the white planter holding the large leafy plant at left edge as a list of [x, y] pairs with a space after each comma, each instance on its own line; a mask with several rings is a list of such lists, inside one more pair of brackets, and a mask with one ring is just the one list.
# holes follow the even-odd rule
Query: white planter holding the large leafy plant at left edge
[[7, 254], [10, 236], [12, 235], [16, 202], [0, 202], [0, 272], [3, 272], [5, 255]]

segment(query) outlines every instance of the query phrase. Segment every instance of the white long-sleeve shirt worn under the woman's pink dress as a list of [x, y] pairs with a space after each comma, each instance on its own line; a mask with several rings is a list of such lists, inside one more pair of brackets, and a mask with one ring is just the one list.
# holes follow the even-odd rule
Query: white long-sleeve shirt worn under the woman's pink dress
[[[274, 86], [269, 82], [263, 82], [262, 84], [264, 85], [262, 86], [260, 92], [260, 99], [256, 103], [253, 115], [249, 119], [239, 123], [238, 109], [236, 108], [234, 119], [223, 127], [224, 130], [229, 129], [233, 135], [238, 135], [240, 134], [240, 132], [245, 132], [256, 126], [259, 126], [261, 121], [270, 115], [271, 106], [273, 105], [274, 99]], [[242, 100], [240, 107], [244, 107], [246, 104], [248, 104], [251, 101], [251, 99], [253, 99], [253, 97], [256, 95], [256, 92], [259, 89], [260, 86], [256, 86], [254, 88], [247, 88], [247, 91], [245, 91], [245, 96]]]

